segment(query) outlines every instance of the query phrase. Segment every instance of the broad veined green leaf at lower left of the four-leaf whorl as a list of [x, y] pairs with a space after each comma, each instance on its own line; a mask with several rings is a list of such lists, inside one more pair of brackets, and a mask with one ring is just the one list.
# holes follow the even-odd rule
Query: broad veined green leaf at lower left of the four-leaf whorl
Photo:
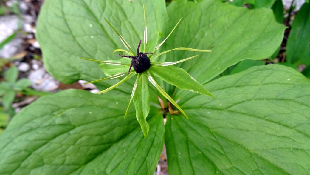
[[[115, 91], [114, 91], [115, 92]], [[23, 108], [0, 136], [0, 174], [153, 174], [162, 114], [151, 110], [144, 139], [130, 95], [66, 90]]]

